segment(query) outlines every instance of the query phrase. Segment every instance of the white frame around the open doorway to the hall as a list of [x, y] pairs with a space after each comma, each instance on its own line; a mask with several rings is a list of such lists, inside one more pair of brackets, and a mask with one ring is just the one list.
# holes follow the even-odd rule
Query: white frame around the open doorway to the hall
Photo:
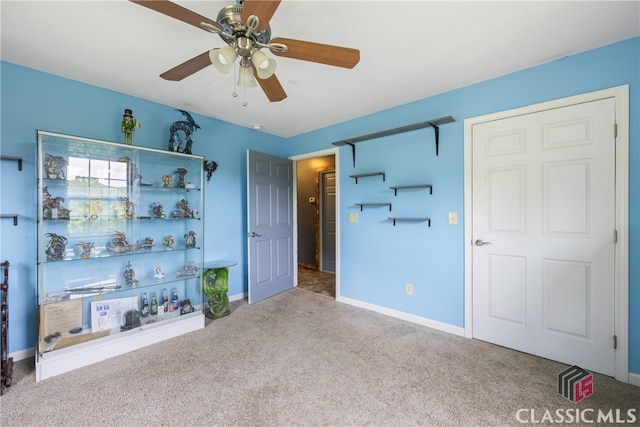
[[340, 150], [327, 148], [325, 150], [312, 151], [310, 153], [290, 156], [293, 160], [293, 284], [298, 286], [298, 161], [313, 159], [314, 157], [334, 156], [336, 173], [336, 300], [340, 297]]

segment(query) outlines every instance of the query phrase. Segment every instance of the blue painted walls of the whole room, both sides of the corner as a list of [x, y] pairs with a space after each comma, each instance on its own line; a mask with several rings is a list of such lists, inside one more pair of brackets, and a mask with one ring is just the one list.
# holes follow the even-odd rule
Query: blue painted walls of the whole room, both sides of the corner
[[[452, 115], [455, 123], [441, 127], [440, 154], [435, 156], [431, 129], [372, 140], [358, 146], [356, 167], [348, 147], [341, 151], [340, 254], [344, 297], [427, 319], [464, 326], [464, 119], [496, 111], [628, 84], [629, 141], [629, 367], [640, 373], [640, 38], [433, 96], [397, 108], [282, 139], [194, 116], [202, 127], [194, 137], [194, 152], [218, 162], [206, 184], [205, 259], [230, 258], [230, 294], [246, 291], [247, 148], [275, 155], [303, 154], [332, 147], [331, 142], [427, 119]], [[35, 343], [35, 129], [120, 141], [119, 121], [132, 108], [142, 129], [135, 145], [166, 147], [168, 124], [181, 116], [170, 106], [61, 79], [8, 63], [1, 64], [2, 154], [22, 156], [23, 172], [2, 162], [0, 212], [20, 215], [20, 224], [1, 223], [0, 259], [12, 262], [9, 351]], [[381, 178], [355, 182], [349, 175], [381, 170]], [[393, 196], [389, 185], [428, 182], [424, 190]], [[392, 226], [384, 208], [354, 203], [391, 201], [393, 215], [432, 218], [432, 226], [401, 223]], [[358, 224], [348, 213], [358, 211]], [[447, 224], [447, 213], [459, 214], [458, 225]], [[404, 295], [404, 283], [414, 295]]]

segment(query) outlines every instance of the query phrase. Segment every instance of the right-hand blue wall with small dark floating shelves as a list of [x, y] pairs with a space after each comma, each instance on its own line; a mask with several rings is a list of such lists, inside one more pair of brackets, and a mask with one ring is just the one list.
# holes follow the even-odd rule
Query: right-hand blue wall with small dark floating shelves
[[[435, 156], [433, 130], [371, 140], [340, 151], [340, 281], [342, 296], [464, 327], [464, 120], [557, 98], [629, 85], [629, 368], [640, 373], [640, 38], [563, 58], [390, 110], [290, 138], [291, 155], [331, 146], [331, 142], [452, 115], [440, 128]], [[384, 171], [381, 178], [349, 175]], [[433, 184], [423, 192], [394, 196], [390, 185]], [[359, 202], [393, 203], [386, 208]], [[447, 213], [458, 212], [458, 225]], [[349, 223], [358, 212], [358, 224]], [[411, 223], [392, 226], [386, 218], [432, 218], [431, 228]], [[414, 295], [404, 294], [404, 284]]]

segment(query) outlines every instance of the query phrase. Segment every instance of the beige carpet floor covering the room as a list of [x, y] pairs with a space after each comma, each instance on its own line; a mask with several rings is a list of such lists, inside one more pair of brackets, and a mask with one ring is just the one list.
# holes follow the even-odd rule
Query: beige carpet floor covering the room
[[560, 396], [565, 368], [292, 289], [40, 383], [33, 360], [17, 362], [0, 425], [515, 426], [518, 413], [531, 425], [545, 411], [616, 409], [640, 418], [640, 388], [602, 375], [583, 401]]

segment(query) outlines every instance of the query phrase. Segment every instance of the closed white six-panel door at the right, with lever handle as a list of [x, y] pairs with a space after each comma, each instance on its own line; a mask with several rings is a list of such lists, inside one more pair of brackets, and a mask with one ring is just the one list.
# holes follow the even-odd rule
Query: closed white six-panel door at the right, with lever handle
[[615, 109], [473, 126], [473, 337], [614, 375]]

